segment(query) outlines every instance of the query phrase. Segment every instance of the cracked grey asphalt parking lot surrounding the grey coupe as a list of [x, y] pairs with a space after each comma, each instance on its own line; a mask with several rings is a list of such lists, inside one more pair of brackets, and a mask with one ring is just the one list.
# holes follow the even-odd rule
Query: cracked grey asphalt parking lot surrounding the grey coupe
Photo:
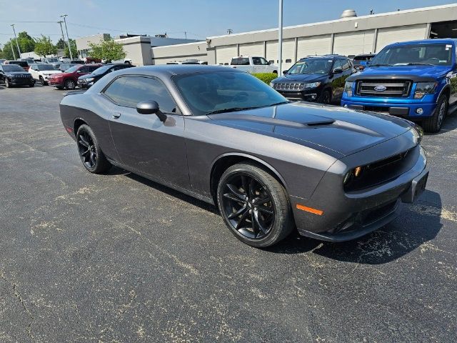
[[86, 172], [63, 93], [0, 86], [0, 342], [455, 342], [456, 115], [392, 224], [261, 250], [214, 207]]

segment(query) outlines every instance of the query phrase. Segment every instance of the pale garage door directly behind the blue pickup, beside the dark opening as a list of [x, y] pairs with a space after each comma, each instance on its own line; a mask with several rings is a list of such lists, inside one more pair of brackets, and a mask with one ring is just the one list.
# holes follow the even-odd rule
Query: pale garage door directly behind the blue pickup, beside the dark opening
[[396, 43], [397, 41], [412, 41], [414, 39], [424, 39], [426, 36], [426, 24], [396, 26], [388, 29], [378, 30], [376, 41], [376, 52], [381, 51], [384, 46]]

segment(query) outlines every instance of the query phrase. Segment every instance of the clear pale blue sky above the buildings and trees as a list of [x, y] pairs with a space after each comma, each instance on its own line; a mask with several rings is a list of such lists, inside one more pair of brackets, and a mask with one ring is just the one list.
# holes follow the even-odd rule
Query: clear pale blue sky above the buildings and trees
[[[371, 9], [378, 14], [454, 2], [283, 0], [283, 24], [338, 19], [344, 9], [355, 9], [362, 16]], [[61, 37], [57, 21], [62, 14], [68, 14], [68, 31], [73, 39], [101, 33], [111, 36], [167, 33], [174, 38], [205, 39], [226, 34], [228, 29], [238, 33], [276, 27], [278, 0], [0, 0], [0, 44], [3, 46], [13, 36], [11, 24], [16, 25], [16, 33], [44, 34], [56, 42]]]

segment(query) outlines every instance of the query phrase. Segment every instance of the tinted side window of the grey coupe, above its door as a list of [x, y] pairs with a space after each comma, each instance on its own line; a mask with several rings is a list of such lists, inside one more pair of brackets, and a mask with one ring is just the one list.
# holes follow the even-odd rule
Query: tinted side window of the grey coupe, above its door
[[166, 86], [150, 77], [120, 77], [104, 93], [120, 106], [136, 107], [141, 101], [154, 100], [159, 104], [161, 111], [176, 113], [176, 104]]

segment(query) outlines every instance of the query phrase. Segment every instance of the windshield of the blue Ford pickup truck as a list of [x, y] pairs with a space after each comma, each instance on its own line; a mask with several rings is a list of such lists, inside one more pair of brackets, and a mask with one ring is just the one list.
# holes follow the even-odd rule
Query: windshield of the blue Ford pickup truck
[[371, 60], [370, 66], [433, 65], [452, 63], [451, 44], [405, 44], [386, 46]]

